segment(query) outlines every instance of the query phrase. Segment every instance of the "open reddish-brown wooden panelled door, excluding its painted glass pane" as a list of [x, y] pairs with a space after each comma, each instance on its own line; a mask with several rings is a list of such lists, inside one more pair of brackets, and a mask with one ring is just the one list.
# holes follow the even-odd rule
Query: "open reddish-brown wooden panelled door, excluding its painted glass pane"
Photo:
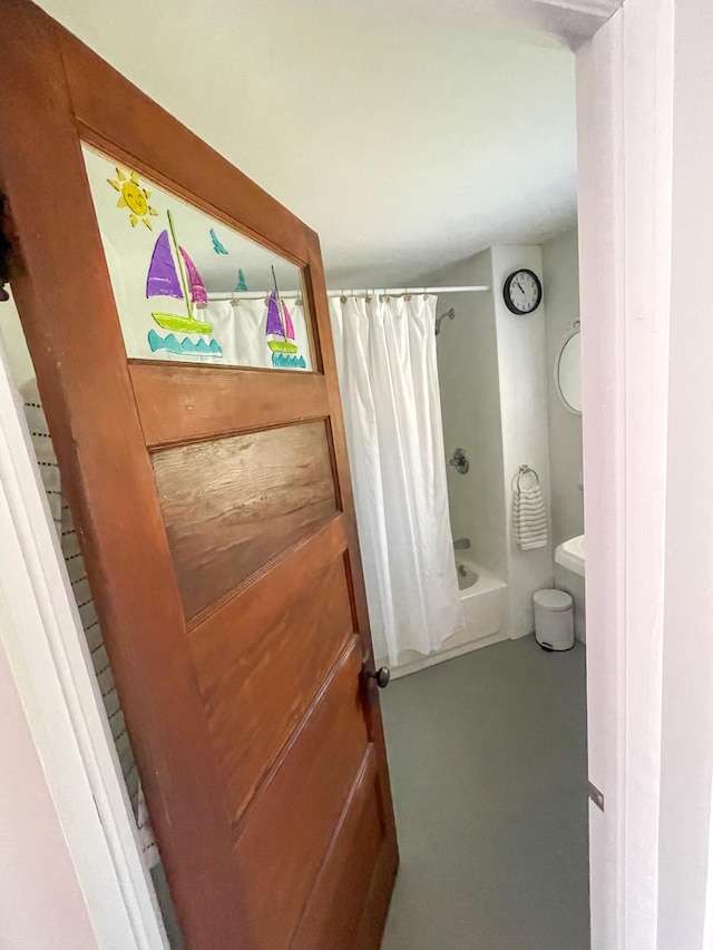
[[[12, 288], [188, 946], [377, 948], [398, 855], [316, 235], [38, 8], [0, 19]], [[82, 143], [296, 265], [312, 370], [128, 359]]]

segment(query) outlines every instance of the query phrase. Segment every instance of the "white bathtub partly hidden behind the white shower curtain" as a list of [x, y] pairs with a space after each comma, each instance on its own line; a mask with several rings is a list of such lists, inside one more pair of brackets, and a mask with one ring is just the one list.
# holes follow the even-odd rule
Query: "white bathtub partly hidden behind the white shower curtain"
[[416, 650], [404, 652], [401, 663], [398, 666], [391, 666], [391, 675], [394, 679], [479, 647], [509, 639], [507, 584], [468, 557], [462, 557], [462, 554], [456, 551], [456, 568], [459, 571], [459, 580], [463, 584], [460, 590], [463, 629], [448, 637], [440, 649], [429, 656], [423, 656]]

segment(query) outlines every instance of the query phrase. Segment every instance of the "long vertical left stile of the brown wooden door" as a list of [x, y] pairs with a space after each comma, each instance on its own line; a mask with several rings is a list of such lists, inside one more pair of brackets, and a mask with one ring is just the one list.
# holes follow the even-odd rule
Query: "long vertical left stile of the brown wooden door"
[[[12, 292], [172, 891], [194, 947], [229, 946], [241, 900], [208, 919], [228, 851], [203, 699], [126, 366], [56, 23], [0, 0], [0, 180], [22, 267]], [[127, 107], [130, 109], [130, 107]], [[91, 320], [87, 320], [91, 314]], [[140, 636], [139, 636], [140, 635]], [[170, 664], [166, 658], [170, 657]], [[146, 724], [150, 723], [150, 728]]]

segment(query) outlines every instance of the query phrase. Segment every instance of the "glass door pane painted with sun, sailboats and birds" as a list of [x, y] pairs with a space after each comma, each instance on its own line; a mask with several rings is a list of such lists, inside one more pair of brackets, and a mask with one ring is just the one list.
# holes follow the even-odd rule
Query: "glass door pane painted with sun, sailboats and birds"
[[312, 370], [299, 266], [82, 151], [129, 358]]

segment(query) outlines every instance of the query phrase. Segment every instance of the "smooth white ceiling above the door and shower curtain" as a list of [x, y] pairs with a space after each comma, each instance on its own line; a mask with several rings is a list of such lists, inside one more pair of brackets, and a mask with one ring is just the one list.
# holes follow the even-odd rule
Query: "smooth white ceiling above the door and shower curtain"
[[573, 49], [618, 4], [41, 2], [314, 227], [334, 286], [572, 226]]

